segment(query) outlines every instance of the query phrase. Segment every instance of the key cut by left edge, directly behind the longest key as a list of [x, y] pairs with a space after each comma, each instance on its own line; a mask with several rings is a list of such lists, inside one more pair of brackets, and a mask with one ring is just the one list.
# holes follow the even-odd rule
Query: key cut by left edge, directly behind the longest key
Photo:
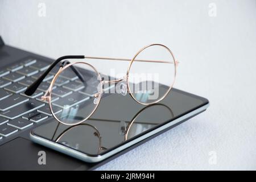
[[5, 111], [7, 109], [11, 109], [11, 107], [15, 107], [19, 104], [27, 102], [28, 98], [15, 94], [13, 96], [7, 97], [6, 99], [0, 101], [0, 110]]

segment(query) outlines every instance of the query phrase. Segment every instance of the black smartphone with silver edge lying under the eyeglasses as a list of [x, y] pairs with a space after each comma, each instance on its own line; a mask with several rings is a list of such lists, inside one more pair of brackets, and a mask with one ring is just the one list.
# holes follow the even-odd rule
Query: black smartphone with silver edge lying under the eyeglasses
[[129, 94], [108, 94], [96, 112], [76, 126], [57, 121], [32, 130], [32, 141], [84, 162], [118, 156], [187, 121], [209, 107], [206, 98], [173, 88], [158, 104], [144, 106]]

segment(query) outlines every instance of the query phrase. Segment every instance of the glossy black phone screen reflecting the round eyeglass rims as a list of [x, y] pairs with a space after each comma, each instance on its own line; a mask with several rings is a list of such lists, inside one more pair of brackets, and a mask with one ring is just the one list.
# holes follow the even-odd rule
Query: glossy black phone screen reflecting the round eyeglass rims
[[207, 104], [207, 99], [177, 89], [149, 106], [138, 104], [129, 94], [109, 94], [102, 98], [92, 117], [80, 125], [52, 121], [32, 134], [98, 156]]

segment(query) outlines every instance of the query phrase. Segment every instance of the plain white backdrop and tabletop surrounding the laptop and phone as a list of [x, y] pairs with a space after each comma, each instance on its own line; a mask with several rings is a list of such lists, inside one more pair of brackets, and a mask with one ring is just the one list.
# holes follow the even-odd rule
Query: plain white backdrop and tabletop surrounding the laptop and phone
[[130, 58], [147, 44], [166, 44], [181, 62], [175, 87], [209, 99], [205, 113], [98, 169], [256, 169], [255, 2], [0, 0], [0, 35], [54, 59]]

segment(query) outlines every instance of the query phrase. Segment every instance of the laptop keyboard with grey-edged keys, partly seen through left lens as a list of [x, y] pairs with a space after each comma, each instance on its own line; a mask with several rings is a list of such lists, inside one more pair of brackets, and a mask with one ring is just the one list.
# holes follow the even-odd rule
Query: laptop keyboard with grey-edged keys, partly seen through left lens
[[[24, 90], [32, 84], [49, 67], [49, 63], [27, 58], [0, 70], [0, 142], [17, 132], [52, 117], [48, 103], [41, 100], [44, 92], [54, 77], [57, 68], [43, 80], [32, 96], [24, 94]], [[77, 81], [78, 77], [71, 72], [58, 79], [52, 90], [52, 101], [56, 101], [55, 114], [61, 112], [61, 102], [70, 94], [79, 94], [81, 98], [92, 95]], [[59, 102], [57, 102], [59, 100]], [[53, 106], [54, 107], [54, 106]]]

